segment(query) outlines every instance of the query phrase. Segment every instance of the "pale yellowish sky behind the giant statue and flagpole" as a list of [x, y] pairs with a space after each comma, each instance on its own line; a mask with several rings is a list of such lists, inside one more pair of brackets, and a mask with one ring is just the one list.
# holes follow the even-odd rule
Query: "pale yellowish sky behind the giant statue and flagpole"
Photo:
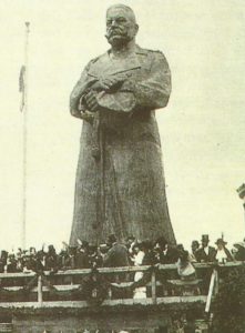
[[[22, 117], [18, 79], [31, 22], [28, 122], [29, 245], [60, 246], [72, 221], [81, 122], [69, 94], [88, 61], [108, 48], [105, 9], [119, 1], [0, 2], [0, 249], [21, 231]], [[167, 199], [178, 242], [245, 233], [236, 189], [245, 182], [245, 1], [129, 0], [137, 43], [172, 69], [169, 107], [157, 111]]]

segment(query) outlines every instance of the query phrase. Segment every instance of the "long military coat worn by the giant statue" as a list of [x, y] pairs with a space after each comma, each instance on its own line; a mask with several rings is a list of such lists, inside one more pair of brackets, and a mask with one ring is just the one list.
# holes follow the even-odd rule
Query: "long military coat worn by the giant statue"
[[164, 56], [135, 46], [125, 58], [108, 51], [90, 61], [71, 93], [71, 113], [85, 118], [83, 97], [100, 77], [119, 73], [125, 82], [96, 92], [101, 111], [83, 122], [70, 243], [101, 242], [110, 233], [120, 240], [164, 235], [174, 243], [154, 112], [171, 92]]

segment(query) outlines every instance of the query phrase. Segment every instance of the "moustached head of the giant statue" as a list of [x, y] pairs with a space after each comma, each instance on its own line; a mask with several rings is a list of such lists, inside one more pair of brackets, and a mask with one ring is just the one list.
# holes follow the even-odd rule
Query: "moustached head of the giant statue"
[[112, 47], [134, 40], [139, 30], [133, 10], [125, 4], [111, 6], [106, 11], [106, 39]]

